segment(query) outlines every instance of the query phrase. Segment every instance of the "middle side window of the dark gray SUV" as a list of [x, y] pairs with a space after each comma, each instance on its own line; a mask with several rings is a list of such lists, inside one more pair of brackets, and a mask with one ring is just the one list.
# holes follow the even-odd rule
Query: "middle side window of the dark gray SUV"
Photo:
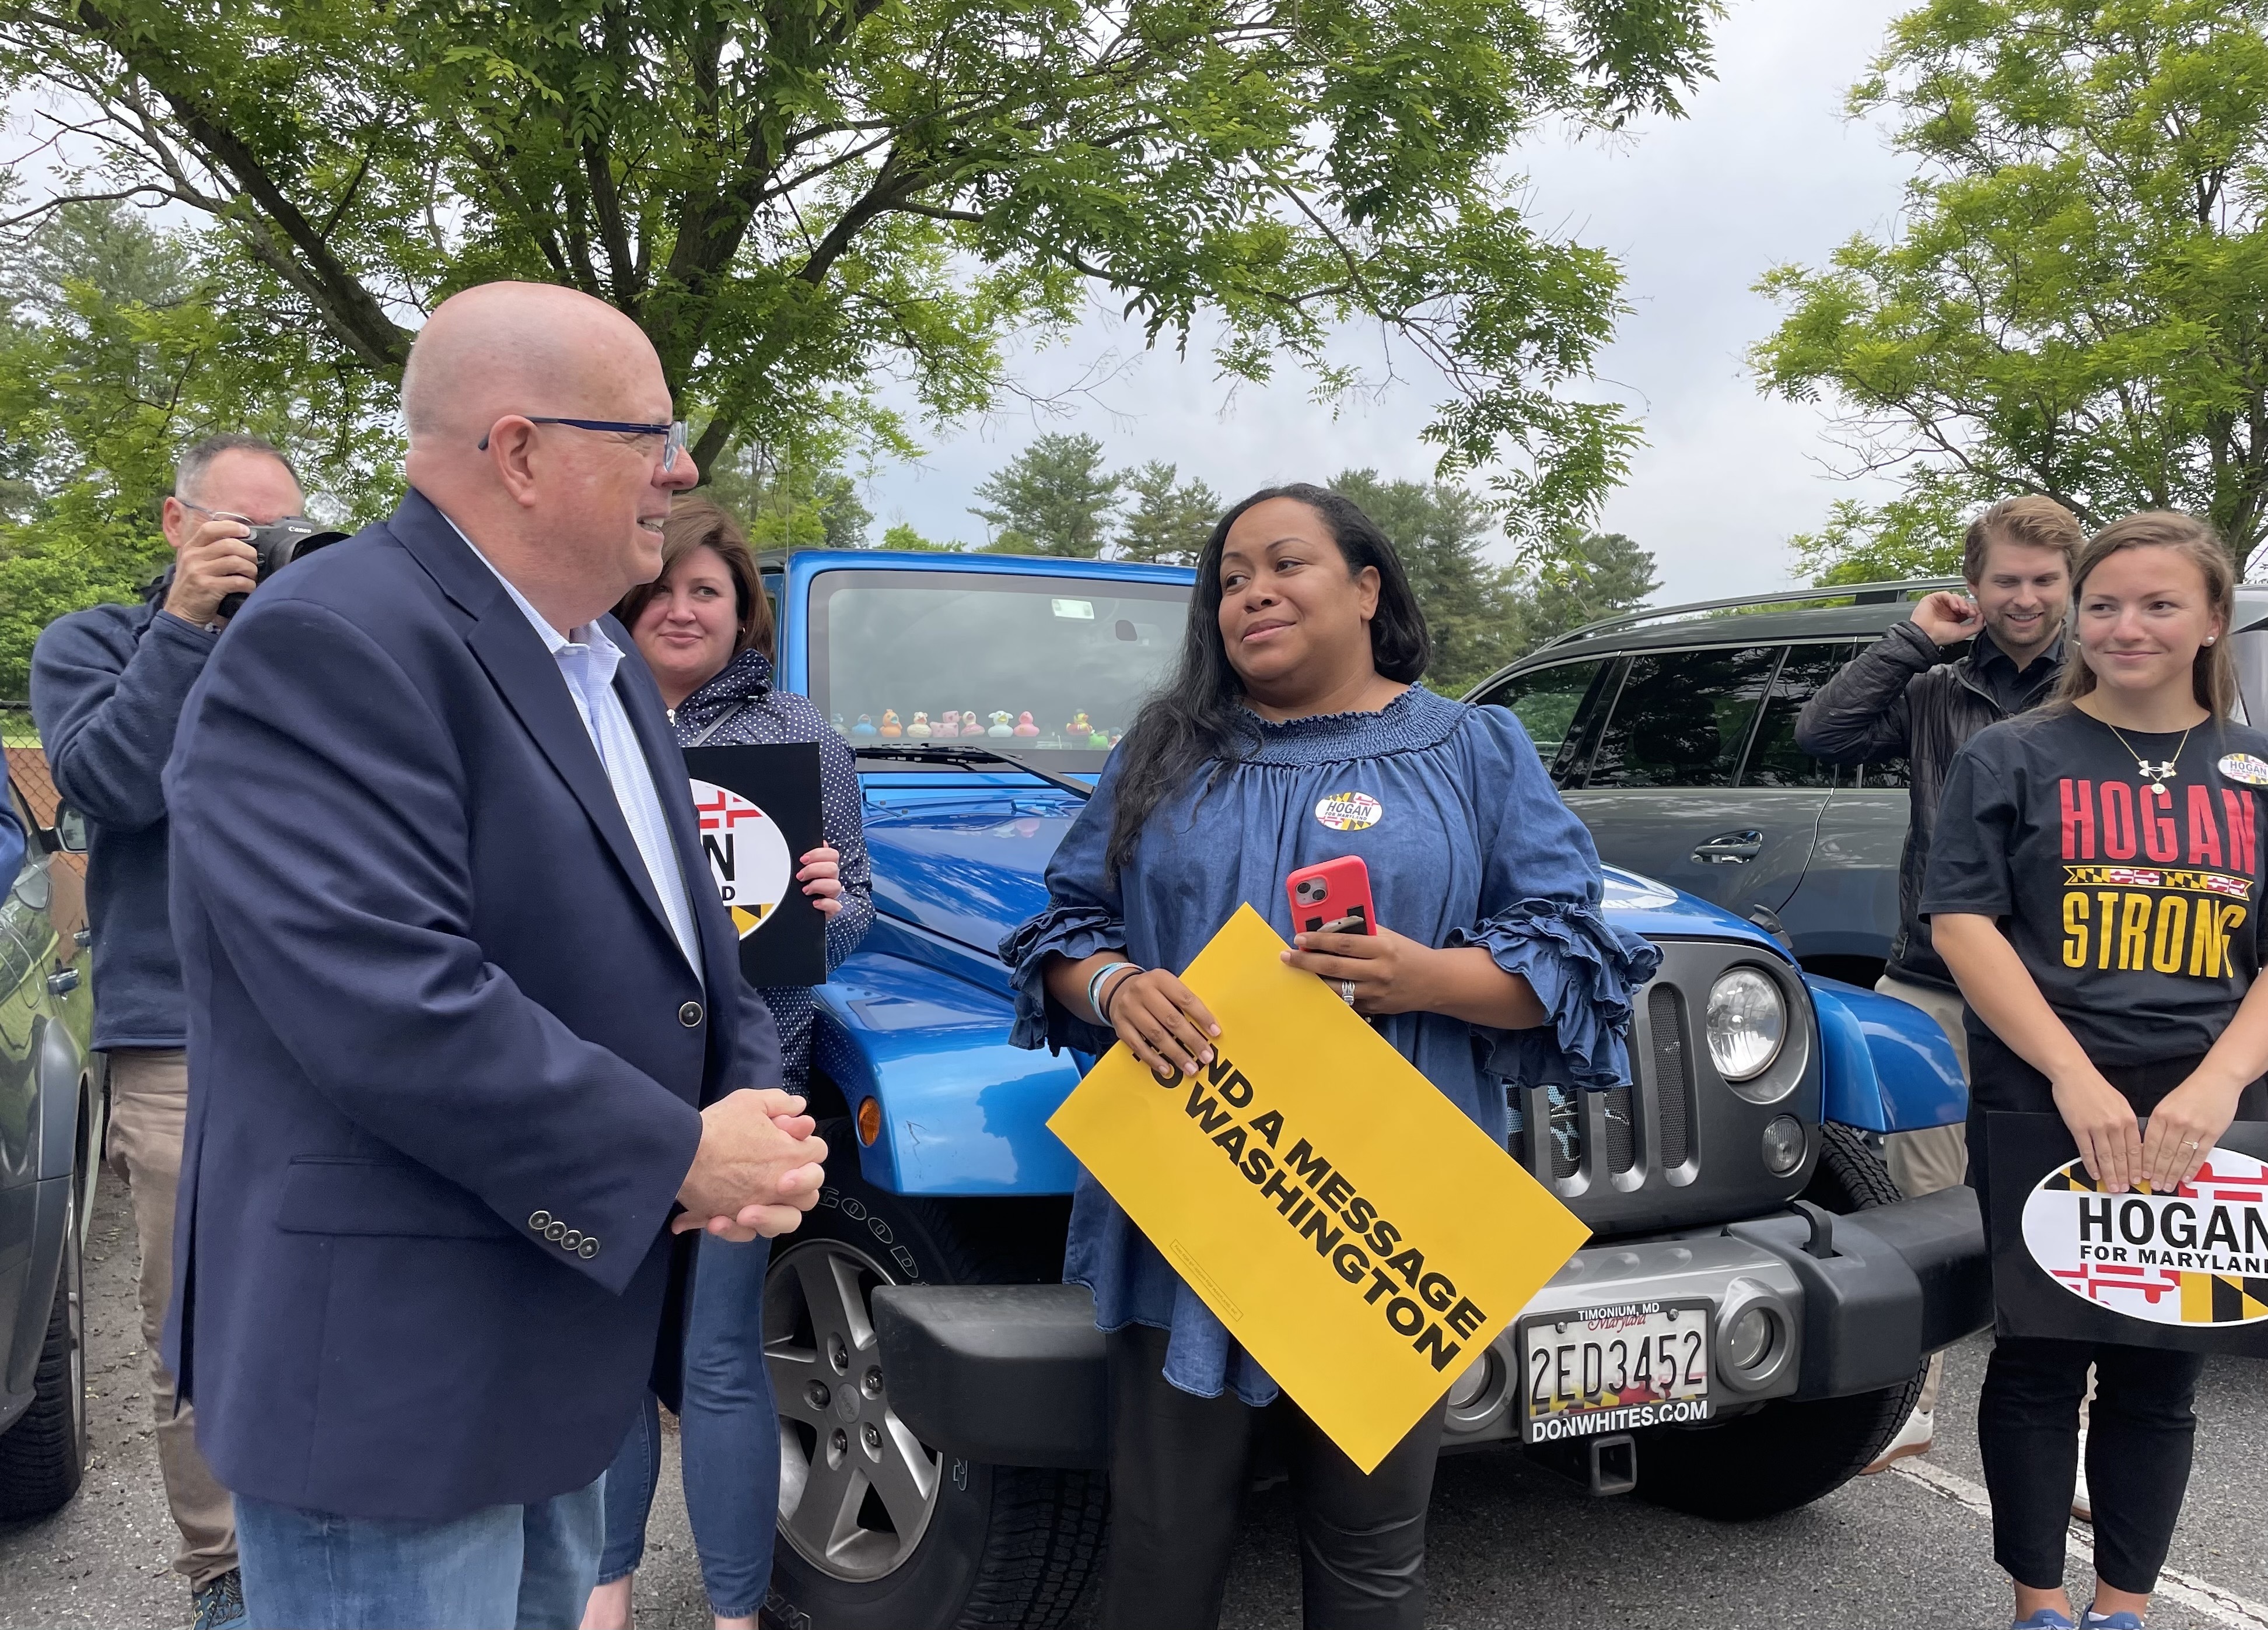
[[1730, 787], [1780, 646], [1631, 657], [1583, 787]]

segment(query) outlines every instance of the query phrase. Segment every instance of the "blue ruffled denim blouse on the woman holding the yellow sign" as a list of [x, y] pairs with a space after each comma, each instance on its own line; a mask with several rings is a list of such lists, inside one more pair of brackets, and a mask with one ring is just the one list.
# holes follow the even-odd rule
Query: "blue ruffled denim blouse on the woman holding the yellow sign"
[[[1379, 923], [1427, 945], [1481, 945], [1524, 975], [1549, 1020], [1490, 1029], [1442, 1013], [1395, 1013], [1379, 1034], [1488, 1136], [1508, 1129], [1506, 1081], [1610, 1088], [1631, 1079], [1631, 995], [1660, 952], [1599, 914], [1599, 852], [1545, 775], [1520, 721], [1411, 687], [1374, 714], [1270, 723], [1213, 784], [1193, 778], [1143, 825], [1120, 875], [1105, 866], [1116, 807], [1114, 753], [1095, 796], [1048, 866], [1048, 909], [1000, 943], [1016, 986], [1018, 1047], [1100, 1054], [1116, 1036], [1050, 1000], [1050, 954], [1125, 948], [1182, 973], [1250, 902], [1290, 939], [1284, 877], [1361, 855]], [[1363, 793], [1370, 805], [1349, 800]], [[1352, 827], [1347, 809], [1370, 816]], [[1327, 825], [1329, 816], [1336, 825]], [[1277, 1396], [1250, 1353], [1091, 1174], [1070, 1202], [1064, 1279], [1095, 1292], [1095, 1324], [1170, 1331], [1166, 1381], [1200, 1396]]]

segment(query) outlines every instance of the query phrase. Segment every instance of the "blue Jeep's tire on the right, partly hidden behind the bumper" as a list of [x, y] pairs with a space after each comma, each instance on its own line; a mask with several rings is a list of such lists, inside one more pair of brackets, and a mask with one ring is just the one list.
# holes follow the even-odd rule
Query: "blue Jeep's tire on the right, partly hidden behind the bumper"
[[[1805, 1199], [1842, 1215], [1901, 1199], [1860, 1131], [1828, 1122], [1819, 1134], [1819, 1168]], [[1926, 1358], [1910, 1381], [1880, 1392], [1767, 1403], [1717, 1426], [1658, 1431], [1637, 1451], [1637, 1494], [1733, 1521], [1810, 1505], [1873, 1465], [1921, 1396], [1923, 1374]]]

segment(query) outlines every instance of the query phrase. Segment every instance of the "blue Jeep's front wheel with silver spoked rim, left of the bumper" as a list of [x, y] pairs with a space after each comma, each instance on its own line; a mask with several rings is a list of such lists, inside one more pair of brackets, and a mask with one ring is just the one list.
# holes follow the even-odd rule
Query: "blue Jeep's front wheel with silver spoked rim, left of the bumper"
[[780, 1408], [764, 1607], [787, 1630], [1059, 1625], [1102, 1553], [1102, 1476], [989, 1467], [919, 1442], [889, 1410], [873, 1290], [1052, 1276], [1061, 1231], [1027, 1226], [1041, 1224], [1032, 1202], [882, 1192], [860, 1172], [848, 1120], [819, 1136], [828, 1183], [803, 1226], [773, 1240], [764, 1281]]

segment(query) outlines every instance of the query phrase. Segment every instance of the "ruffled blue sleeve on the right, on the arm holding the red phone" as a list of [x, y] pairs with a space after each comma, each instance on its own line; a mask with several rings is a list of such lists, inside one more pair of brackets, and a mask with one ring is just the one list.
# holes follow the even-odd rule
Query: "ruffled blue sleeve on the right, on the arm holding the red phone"
[[1495, 1041], [1486, 1068], [1520, 1086], [1622, 1086], [1631, 1079], [1633, 1000], [1662, 952], [1599, 911], [1599, 850], [1560, 803], [1520, 721], [1476, 707], [1467, 744], [1488, 852], [1481, 920], [1454, 929], [1449, 943], [1488, 950], [1529, 982], [1547, 1016], [1535, 1029], [1483, 1027]]

